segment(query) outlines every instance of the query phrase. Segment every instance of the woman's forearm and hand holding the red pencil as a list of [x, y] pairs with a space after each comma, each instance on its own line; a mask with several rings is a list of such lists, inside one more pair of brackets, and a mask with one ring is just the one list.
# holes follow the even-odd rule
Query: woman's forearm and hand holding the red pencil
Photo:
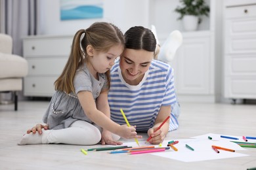
[[[165, 136], [169, 130], [170, 120], [167, 120], [163, 126], [156, 131], [158, 126], [171, 114], [171, 105], [169, 106], [161, 106], [158, 116], [156, 117], [155, 124], [152, 128], [148, 129], [148, 136], [151, 136], [150, 143], [152, 144], [160, 144], [165, 139]], [[155, 132], [154, 132], [155, 131]]]

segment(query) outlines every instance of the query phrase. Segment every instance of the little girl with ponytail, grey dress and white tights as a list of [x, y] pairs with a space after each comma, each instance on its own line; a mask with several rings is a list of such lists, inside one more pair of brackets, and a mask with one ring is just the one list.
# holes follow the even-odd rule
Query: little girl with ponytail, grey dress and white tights
[[110, 68], [123, 52], [124, 43], [123, 33], [106, 22], [77, 31], [68, 62], [54, 82], [56, 92], [43, 116], [49, 130], [26, 134], [18, 144], [91, 145], [100, 139], [106, 144], [121, 144], [116, 142], [119, 137], [140, 138], [134, 126], [120, 126], [110, 120]]

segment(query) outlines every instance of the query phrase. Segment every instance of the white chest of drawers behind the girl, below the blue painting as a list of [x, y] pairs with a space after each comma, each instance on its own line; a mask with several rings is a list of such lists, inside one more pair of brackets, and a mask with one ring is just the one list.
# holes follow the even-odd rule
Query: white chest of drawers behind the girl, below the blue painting
[[33, 36], [23, 39], [24, 58], [28, 60], [28, 76], [24, 78], [24, 95], [51, 97], [54, 81], [64, 69], [73, 37]]

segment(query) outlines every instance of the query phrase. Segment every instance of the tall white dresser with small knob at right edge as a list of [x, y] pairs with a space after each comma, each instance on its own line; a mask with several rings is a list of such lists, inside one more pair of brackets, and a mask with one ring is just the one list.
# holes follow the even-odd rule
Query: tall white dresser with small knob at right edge
[[256, 99], [256, 1], [224, 4], [224, 97]]

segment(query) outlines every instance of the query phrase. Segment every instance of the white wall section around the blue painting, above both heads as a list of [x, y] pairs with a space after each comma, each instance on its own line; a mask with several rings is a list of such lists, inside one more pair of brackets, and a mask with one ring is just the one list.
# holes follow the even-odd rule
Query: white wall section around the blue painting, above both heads
[[149, 2], [148, 0], [105, 0], [104, 18], [61, 21], [60, 1], [41, 1], [41, 34], [73, 35], [77, 30], [100, 21], [112, 22], [122, 31], [135, 25], [148, 27]]

